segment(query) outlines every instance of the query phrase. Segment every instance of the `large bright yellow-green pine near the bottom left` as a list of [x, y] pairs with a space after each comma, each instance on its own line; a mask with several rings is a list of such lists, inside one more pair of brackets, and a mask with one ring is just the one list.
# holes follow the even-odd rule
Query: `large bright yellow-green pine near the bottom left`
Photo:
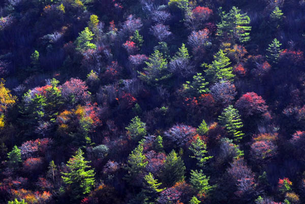
[[[72, 156], [68, 161], [68, 172], [62, 172], [62, 179], [71, 192], [72, 200], [78, 200], [84, 194], [89, 193], [95, 183], [94, 169], [88, 169], [91, 167], [87, 165], [90, 161], [86, 161], [83, 154], [81, 149], [78, 149], [75, 156]], [[88, 170], [86, 171], [86, 169]]]

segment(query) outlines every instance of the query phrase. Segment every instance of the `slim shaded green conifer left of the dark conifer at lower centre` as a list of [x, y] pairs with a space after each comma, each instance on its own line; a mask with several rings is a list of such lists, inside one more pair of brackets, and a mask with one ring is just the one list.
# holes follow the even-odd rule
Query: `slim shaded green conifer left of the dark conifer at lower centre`
[[128, 156], [126, 170], [128, 174], [125, 176], [125, 179], [133, 184], [134, 179], [137, 175], [143, 172], [143, 169], [147, 165], [146, 157], [143, 154], [143, 146], [138, 145]]

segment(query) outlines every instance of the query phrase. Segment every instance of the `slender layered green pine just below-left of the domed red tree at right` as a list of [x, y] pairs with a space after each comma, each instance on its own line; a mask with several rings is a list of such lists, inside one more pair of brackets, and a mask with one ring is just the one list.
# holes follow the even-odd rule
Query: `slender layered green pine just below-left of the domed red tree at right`
[[232, 105], [224, 109], [222, 114], [218, 117], [219, 123], [224, 126], [228, 133], [232, 135], [234, 141], [238, 142], [245, 135], [240, 128], [243, 124], [240, 119], [240, 115]]

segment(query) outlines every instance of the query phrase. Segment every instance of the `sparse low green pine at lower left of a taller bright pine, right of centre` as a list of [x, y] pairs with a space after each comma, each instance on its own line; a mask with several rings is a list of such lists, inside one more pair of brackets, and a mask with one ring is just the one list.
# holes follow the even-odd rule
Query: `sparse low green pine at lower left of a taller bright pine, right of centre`
[[206, 87], [208, 82], [202, 76], [202, 73], [197, 73], [193, 76], [193, 82], [187, 81], [183, 84], [182, 94], [186, 97], [198, 97], [201, 94], [208, 93], [209, 89]]

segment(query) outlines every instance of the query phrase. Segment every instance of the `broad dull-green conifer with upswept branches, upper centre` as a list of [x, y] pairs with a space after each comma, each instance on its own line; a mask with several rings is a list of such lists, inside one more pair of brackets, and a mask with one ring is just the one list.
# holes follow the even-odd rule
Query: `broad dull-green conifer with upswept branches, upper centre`
[[144, 72], [139, 72], [139, 78], [145, 81], [148, 85], [157, 86], [161, 82], [171, 77], [171, 73], [167, 69], [167, 60], [163, 58], [162, 53], [155, 50], [145, 62], [147, 67], [144, 67]]

